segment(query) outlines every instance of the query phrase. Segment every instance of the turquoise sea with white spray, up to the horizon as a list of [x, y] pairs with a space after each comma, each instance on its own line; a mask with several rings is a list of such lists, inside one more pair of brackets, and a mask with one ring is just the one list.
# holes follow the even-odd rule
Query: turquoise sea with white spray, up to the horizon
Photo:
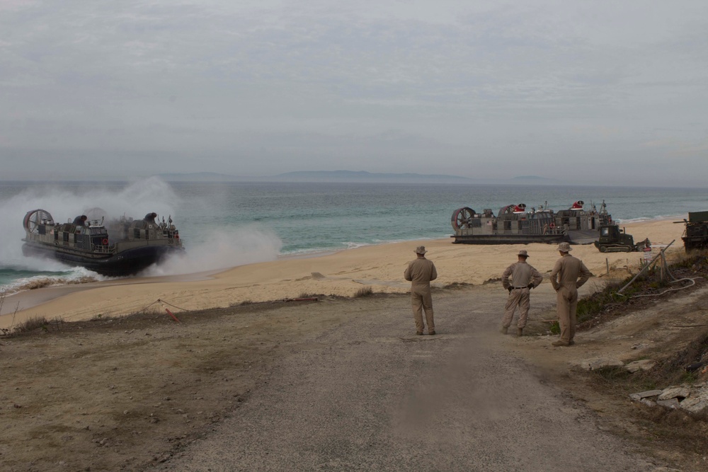
[[186, 255], [151, 267], [145, 275], [219, 270], [283, 255], [338, 251], [396, 241], [445, 238], [459, 207], [476, 212], [525, 203], [567, 209], [603, 200], [613, 219], [685, 217], [708, 210], [705, 188], [612, 188], [542, 185], [405, 183], [131, 183], [0, 182], [0, 292], [48, 284], [104, 280], [81, 267], [25, 258], [25, 213], [45, 209], [55, 221], [91, 208], [136, 219], [149, 212], [171, 217]]

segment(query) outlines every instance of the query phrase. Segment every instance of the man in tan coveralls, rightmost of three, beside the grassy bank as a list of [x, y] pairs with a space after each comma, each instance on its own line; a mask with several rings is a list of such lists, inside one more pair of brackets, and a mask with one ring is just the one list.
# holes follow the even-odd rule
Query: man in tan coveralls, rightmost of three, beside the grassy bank
[[583, 261], [569, 254], [571, 245], [560, 243], [558, 251], [561, 258], [556, 261], [551, 271], [551, 284], [556, 290], [558, 323], [561, 327], [561, 338], [554, 346], [571, 346], [575, 344], [576, 309], [578, 308], [578, 289], [588, 282], [590, 270]]

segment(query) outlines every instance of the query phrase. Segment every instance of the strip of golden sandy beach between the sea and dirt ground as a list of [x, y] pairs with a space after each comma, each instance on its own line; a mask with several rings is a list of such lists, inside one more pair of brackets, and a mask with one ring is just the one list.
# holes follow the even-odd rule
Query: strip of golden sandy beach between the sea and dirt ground
[[[685, 216], [622, 225], [634, 241], [649, 238], [653, 254], [671, 241], [668, 253], [683, 251]], [[218, 274], [195, 277], [129, 278], [94, 282], [72, 287], [46, 287], [6, 297], [0, 328], [44, 316], [52, 320], [79, 321], [98, 316], [124, 316], [144, 309], [164, 311], [162, 300], [173, 311], [224, 308], [244, 302], [295, 299], [314, 294], [352, 297], [370, 287], [377, 293], [405, 293], [406, 263], [414, 258], [413, 248], [423, 243], [427, 257], [438, 267], [435, 287], [450, 284], [484, 284], [501, 277], [515, 254], [524, 248], [528, 262], [547, 274], [558, 258], [553, 244], [474, 246], [453, 244], [452, 239], [410, 241], [366, 246], [312, 258], [284, 258], [266, 263], [234, 267]], [[636, 272], [644, 254], [600, 253], [593, 245], [573, 246], [572, 254], [583, 260], [593, 275], [624, 277]], [[629, 270], [628, 270], [629, 269]]]

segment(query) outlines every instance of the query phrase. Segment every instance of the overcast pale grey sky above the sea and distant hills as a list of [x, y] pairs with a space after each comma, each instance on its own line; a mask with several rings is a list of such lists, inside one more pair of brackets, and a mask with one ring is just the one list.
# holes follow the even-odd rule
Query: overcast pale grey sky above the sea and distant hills
[[2, 0], [0, 180], [704, 186], [705, 0]]

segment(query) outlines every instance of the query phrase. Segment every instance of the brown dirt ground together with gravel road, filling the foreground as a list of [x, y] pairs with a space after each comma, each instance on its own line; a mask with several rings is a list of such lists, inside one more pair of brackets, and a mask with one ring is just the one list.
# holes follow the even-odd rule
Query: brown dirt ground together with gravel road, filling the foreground
[[[551, 338], [498, 333], [506, 292], [252, 305], [50, 327], [0, 346], [8, 471], [652, 471], [556, 386]], [[554, 294], [532, 294], [532, 318]], [[572, 353], [572, 354], [569, 354]], [[536, 362], [544, 359], [543, 362]], [[541, 366], [541, 367], [535, 367]], [[561, 372], [559, 374], [559, 372]], [[658, 469], [657, 469], [658, 470]]]

